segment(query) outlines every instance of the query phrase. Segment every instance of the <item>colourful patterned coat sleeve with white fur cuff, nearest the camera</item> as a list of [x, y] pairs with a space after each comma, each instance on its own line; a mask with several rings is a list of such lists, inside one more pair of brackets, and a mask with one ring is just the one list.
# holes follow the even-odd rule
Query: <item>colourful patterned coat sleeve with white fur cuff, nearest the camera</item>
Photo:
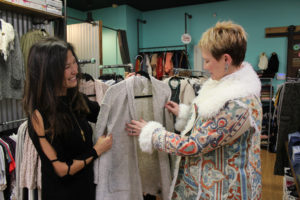
[[214, 118], [207, 121], [198, 119], [188, 136], [168, 132], [161, 124], [149, 122], [140, 134], [143, 138], [139, 139], [140, 147], [146, 152], [151, 152], [153, 146], [178, 156], [199, 156], [240, 137], [249, 130], [250, 121], [249, 109], [230, 101]]

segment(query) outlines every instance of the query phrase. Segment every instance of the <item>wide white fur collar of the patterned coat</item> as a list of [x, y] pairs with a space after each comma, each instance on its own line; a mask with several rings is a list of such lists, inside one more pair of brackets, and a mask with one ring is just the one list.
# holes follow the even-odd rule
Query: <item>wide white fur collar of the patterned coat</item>
[[252, 66], [243, 62], [241, 69], [216, 81], [208, 79], [193, 103], [198, 106], [198, 114], [205, 118], [215, 116], [229, 100], [260, 96], [261, 83]]

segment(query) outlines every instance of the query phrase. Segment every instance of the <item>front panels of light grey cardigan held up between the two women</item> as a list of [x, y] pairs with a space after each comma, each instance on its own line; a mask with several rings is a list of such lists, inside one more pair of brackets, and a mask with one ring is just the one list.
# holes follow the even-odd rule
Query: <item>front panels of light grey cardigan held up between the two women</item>
[[[151, 77], [154, 120], [172, 131], [172, 115], [164, 108], [171, 91], [167, 84]], [[94, 162], [96, 199], [143, 200], [143, 189], [138, 167], [138, 137], [128, 136], [125, 124], [136, 117], [134, 88], [139, 78], [130, 77], [111, 86], [103, 99], [96, 124], [95, 136], [112, 133], [113, 145]], [[158, 152], [161, 198], [168, 198], [171, 185], [170, 161], [167, 153]], [[159, 172], [158, 172], [159, 173]]]

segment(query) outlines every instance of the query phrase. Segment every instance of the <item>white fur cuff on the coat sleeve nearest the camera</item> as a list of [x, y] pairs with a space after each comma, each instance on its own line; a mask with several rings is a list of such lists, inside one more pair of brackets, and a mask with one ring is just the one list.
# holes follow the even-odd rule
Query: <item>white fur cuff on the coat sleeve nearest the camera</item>
[[142, 128], [141, 134], [139, 136], [139, 144], [143, 152], [153, 152], [152, 135], [156, 129], [164, 129], [164, 127], [158, 122], [150, 121], [146, 126], [144, 126], [144, 128]]

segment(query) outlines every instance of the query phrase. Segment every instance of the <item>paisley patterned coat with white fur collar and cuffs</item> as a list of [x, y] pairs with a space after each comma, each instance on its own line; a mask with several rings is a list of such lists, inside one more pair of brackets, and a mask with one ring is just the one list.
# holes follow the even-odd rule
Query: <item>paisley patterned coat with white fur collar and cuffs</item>
[[260, 81], [251, 65], [220, 81], [209, 79], [191, 107], [180, 105], [176, 129], [149, 122], [139, 138], [177, 155], [169, 199], [261, 199]]

